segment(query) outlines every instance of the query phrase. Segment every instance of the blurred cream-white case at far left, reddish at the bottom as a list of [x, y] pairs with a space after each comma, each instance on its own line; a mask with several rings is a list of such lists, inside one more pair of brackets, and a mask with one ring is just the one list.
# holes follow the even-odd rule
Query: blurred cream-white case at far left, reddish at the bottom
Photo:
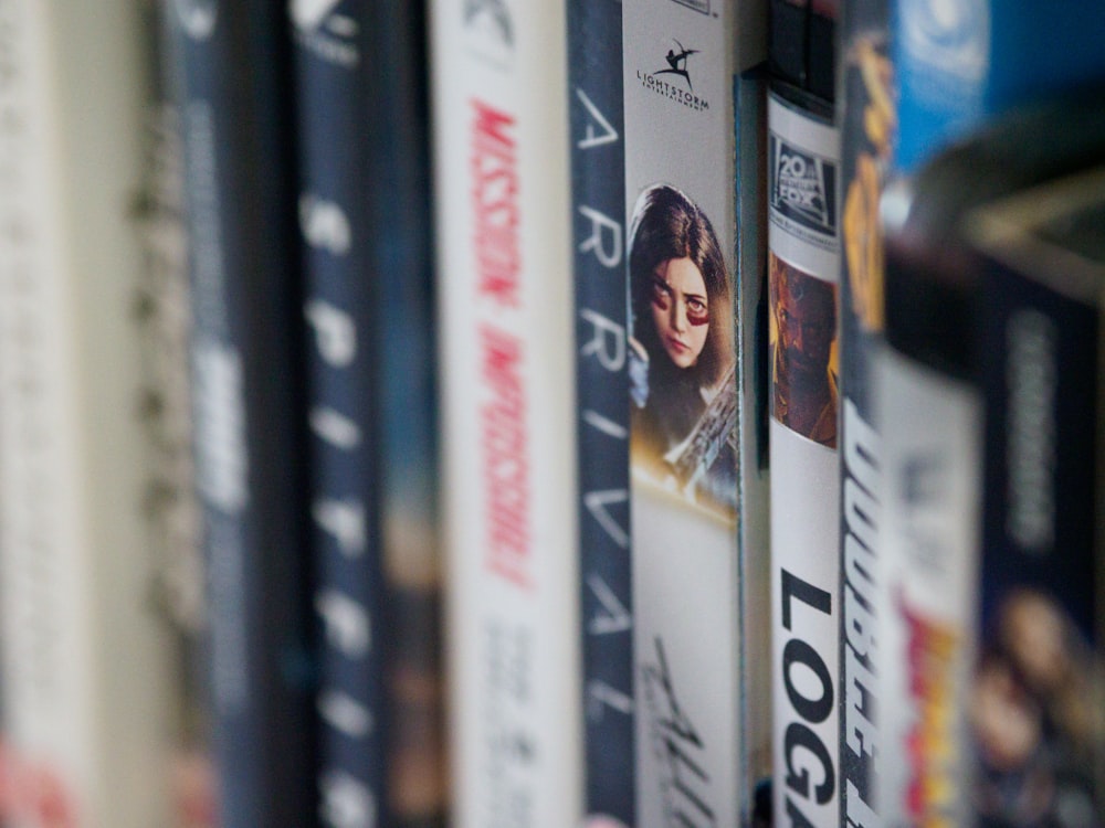
[[[167, 825], [143, 514], [137, 3], [0, 3], [0, 630], [12, 826]], [[94, 102], [94, 105], [90, 104]]]

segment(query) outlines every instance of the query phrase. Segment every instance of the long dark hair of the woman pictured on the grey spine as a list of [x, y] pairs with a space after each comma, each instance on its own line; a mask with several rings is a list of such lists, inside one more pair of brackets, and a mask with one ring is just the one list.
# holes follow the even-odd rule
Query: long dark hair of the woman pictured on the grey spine
[[684, 370], [676, 368], [664, 351], [650, 305], [656, 267], [669, 259], [686, 257], [698, 267], [706, 283], [709, 329], [697, 361], [685, 370], [696, 385], [714, 385], [733, 361], [733, 305], [725, 258], [709, 219], [674, 187], [655, 184], [636, 200], [629, 244], [633, 336], [649, 353], [650, 373], [663, 375]]

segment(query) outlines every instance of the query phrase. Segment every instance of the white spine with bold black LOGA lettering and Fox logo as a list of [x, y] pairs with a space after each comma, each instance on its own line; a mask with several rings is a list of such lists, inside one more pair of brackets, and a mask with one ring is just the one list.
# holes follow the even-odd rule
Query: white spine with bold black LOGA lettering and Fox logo
[[[768, 100], [774, 813], [838, 819], [840, 132], [832, 105]], [[803, 683], [802, 675], [814, 677]], [[814, 762], [813, 786], [794, 754]]]

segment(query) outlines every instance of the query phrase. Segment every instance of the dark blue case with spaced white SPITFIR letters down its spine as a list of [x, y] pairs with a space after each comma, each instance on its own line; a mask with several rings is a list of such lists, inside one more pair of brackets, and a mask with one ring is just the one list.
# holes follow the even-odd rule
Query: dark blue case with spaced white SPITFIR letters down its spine
[[396, 0], [291, 10], [313, 331], [315, 607], [325, 630], [320, 815], [334, 826], [350, 825], [350, 814], [354, 825], [440, 825], [423, 11]]

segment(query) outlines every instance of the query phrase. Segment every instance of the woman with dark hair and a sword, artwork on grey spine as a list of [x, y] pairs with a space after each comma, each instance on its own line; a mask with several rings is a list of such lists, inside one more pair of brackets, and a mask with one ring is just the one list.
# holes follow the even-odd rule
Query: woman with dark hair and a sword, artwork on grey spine
[[630, 226], [634, 471], [736, 517], [732, 284], [714, 226], [690, 195], [648, 187]]

